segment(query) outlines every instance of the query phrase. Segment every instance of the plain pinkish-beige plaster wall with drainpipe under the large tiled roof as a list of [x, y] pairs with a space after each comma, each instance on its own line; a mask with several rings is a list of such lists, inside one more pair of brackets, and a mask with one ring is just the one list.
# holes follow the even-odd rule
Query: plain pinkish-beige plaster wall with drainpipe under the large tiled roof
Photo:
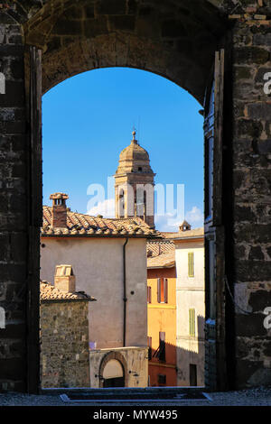
[[[91, 304], [89, 341], [97, 348], [123, 346], [123, 244], [125, 238], [42, 238], [42, 280], [53, 281], [55, 266], [72, 264], [76, 290], [97, 299]], [[134, 294], [132, 294], [132, 291]], [[126, 244], [126, 346], [146, 346], [145, 239]]]

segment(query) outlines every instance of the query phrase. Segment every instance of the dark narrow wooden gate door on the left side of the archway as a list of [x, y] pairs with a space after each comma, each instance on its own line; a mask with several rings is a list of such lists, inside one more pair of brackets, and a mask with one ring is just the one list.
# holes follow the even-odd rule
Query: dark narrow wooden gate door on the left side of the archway
[[40, 229], [42, 226], [42, 51], [25, 54], [28, 109], [27, 386], [40, 388]]

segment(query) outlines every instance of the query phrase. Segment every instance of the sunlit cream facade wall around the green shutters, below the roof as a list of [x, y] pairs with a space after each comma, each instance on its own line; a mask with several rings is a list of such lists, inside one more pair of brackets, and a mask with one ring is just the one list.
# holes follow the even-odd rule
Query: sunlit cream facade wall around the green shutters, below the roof
[[[194, 253], [194, 277], [188, 276], [188, 253]], [[190, 364], [197, 365], [197, 383], [204, 385], [204, 244], [175, 242], [177, 304], [177, 385], [190, 385]], [[195, 309], [195, 336], [189, 335], [189, 309]]]

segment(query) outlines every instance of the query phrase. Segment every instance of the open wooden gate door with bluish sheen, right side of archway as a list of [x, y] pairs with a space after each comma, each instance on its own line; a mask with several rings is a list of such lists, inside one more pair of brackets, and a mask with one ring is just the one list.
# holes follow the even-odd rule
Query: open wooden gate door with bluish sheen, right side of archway
[[213, 390], [225, 388], [227, 384], [222, 221], [224, 58], [224, 50], [216, 52], [214, 73], [204, 103], [205, 382]]

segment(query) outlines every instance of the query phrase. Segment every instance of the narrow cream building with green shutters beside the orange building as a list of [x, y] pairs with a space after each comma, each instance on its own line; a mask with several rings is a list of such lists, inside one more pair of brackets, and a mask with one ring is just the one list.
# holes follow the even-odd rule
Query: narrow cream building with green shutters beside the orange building
[[167, 234], [175, 244], [177, 385], [204, 385], [204, 232], [187, 222]]

